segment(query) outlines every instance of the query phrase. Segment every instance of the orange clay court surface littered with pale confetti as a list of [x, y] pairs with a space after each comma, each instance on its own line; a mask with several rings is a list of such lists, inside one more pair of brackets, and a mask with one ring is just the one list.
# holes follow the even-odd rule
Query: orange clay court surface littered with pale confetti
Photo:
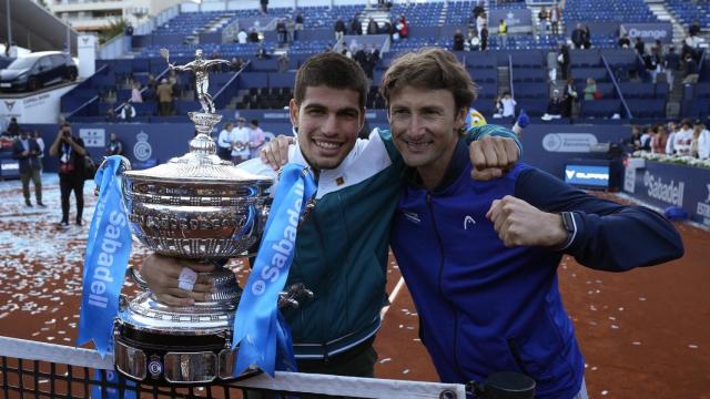
[[[59, 231], [57, 175], [44, 175], [48, 208], [26, 207], [20, 183], [0, 182], [0, 336], [73, 345], [85, 236], [95, 198], [84, 188], [84, 226]], [[73, 200], [72, 200], [73, 204]], [[73, 215], [73, 205], [72, 205]], [[710, 398], [710, 232], [677, 224], [686, 255], [623, 274], [565, 257], [562, 296], [586, 357], [590, 398]], [[145, 252], [134, 245], [131, 263]], [[245, 280], [241, 260], [232, 265]], [[130, 288], [129, 288], [130, 289]], [[417, 314], [394, 258], [376, 348], [376, 375], [436, 381], [417, 337]]]

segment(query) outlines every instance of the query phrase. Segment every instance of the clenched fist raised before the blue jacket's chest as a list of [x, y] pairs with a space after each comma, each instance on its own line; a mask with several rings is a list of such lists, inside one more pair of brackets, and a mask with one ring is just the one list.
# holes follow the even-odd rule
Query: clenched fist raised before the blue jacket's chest
[[567, 239], [559, 214], [542, 212], [527, 202], [506, 195], [495, 200], [486, 217], [493, 222], [505, 246], [558, 246]]

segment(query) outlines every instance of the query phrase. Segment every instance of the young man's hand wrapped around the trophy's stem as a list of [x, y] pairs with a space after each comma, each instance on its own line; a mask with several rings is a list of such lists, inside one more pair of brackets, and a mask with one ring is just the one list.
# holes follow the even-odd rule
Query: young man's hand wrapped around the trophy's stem
[[152, 254], [143, 260], [140, 273], [158, 300], [166, 305], [190, 306], [195, 300], [207, 300], [214, 286], [214, 282], [207, 275], [197, 275], [191, 291], [178, 288], [180, 284], [178, 279], [183, 267], [189, 267], [196, 273], [214, 270], [214, 265], [211, 264]]

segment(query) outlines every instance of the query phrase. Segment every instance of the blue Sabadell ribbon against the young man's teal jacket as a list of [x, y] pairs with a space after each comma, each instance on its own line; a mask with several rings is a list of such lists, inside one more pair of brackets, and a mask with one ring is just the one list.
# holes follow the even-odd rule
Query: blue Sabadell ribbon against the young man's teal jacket
[[[240, 346], [234, 375], [251, 366], [270, 376], [295, 371], [291, 330], [276, 306], [295, 252], [296, 233], [316, 184], [307, 168], [286, 164], [272, 203], [262, 243], [234, 316], [232, 348]], [[278, 355], [278, 361], [276, 361]]]

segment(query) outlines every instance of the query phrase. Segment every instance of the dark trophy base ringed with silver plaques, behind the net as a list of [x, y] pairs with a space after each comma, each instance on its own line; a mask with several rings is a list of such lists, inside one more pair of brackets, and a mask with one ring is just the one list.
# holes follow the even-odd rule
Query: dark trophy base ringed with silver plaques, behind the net
[[139, 382], [204, 386], [262, 372], [247, 369], [233, 376], [239, 348], [230, 349], [231, 331], [171, 335], [119, 323], [113, 338], [116, 371]]

